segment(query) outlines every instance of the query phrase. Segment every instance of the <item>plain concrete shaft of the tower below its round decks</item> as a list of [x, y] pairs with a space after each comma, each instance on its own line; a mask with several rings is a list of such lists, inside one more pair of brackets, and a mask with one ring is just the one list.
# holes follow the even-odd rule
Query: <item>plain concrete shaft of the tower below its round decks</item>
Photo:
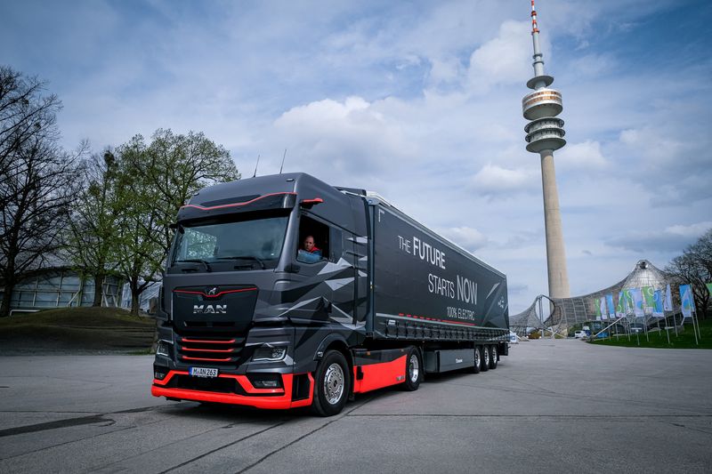
[[549, 296], [568, 298], [569, 272], [566, 269], [566, 252], [563, 245], [562, 214], [559, 209], [559, 192], [556, 189], [554, 151], [542, 150], [541, 187], [544, 191], [544, 226], [546, 232], [546, 263], [549, 277]]

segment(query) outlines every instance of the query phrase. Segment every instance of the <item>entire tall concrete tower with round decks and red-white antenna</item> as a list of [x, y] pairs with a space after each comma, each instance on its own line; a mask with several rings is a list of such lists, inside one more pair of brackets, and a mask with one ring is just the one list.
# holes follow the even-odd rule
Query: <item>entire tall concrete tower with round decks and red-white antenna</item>
[[533, 89], [533, 92], [522, 99], [522, 114], [530, 121], [524, 127], [524, 132], [527, 134], [525, 140], [527, 151], [538, 153], [541, 157], [549, 296], [568, 298], [570, 296], [569, 273], [566, 269], [562, 217], [554, 170], [554, 150], [561, 149], [566, 144], [563, 139], [565, 134], [563, 120], [557, 117], [563, 110], [562, 94], [549, 87], [554, 83], [554, 77], [544, 73], [534, 0], [531, 0], [531, 39], [534, 44], [534, 77], [527, 81], [527, 87]]

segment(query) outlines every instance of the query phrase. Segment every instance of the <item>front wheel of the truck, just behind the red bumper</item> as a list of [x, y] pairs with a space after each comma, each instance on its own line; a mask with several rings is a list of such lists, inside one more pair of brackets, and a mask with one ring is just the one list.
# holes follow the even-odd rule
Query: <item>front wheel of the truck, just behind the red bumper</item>
[[351, 393], [351, 376], [344, 354], [329, 350], [314, 374], [312, 412], [333, 416], [341, 412]]

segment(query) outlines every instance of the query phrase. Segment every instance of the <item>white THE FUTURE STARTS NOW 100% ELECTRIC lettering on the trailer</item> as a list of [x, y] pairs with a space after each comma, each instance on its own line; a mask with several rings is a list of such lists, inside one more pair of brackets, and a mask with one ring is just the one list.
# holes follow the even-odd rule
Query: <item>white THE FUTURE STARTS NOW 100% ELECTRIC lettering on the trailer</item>
[[[418, 237], [413, 236], [412, 239], [408, 239], [398, 236], [398, 248], [401, 249], [402, 252], [409, 253], [409, 255], [413, 255], [422, 261], [430, 263], [434, 267], [445, 269], [445, 253], [435, 246], [422, 241]], [[469, 278], [460, 277], [459, 275], [456, 276], [456, 280], [457, 283], [447, 278], [438, 277], [433, 273], [428, 273], [428, 292], [441, 294], [453, 300], [457, 299], [458, 301], [476, 305], [477, 282]], [[469, 309], [456, 309], [456, 312], [461, 315], [462, 313], [470, 312], [472, 316], [474, 315], [474, 312]]]

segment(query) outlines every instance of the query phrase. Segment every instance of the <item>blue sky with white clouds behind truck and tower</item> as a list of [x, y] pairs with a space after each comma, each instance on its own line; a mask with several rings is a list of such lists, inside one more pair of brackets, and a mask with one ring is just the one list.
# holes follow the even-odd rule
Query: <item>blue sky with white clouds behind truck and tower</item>
[[[555, 153], [572, 294], [662, 268], [712, 228], [712, 4], [539, 1], [562, 92]], [[377, 190], [546, 293], [538, 157], [524, 149], [528, 0], [4, 2], [0, 62], [49, 82], [62, 143], [203, 131], [245, 175]]]

